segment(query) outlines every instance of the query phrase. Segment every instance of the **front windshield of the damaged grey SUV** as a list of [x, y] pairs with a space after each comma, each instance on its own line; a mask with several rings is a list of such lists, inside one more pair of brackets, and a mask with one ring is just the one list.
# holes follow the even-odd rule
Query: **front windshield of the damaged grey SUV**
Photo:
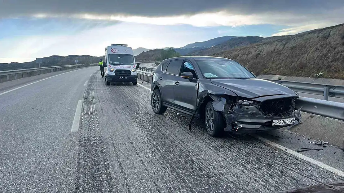
[[230, 60], [203, 60], [197, 64], [206, 79], [252, 79], [256, 78], [238, 62]]

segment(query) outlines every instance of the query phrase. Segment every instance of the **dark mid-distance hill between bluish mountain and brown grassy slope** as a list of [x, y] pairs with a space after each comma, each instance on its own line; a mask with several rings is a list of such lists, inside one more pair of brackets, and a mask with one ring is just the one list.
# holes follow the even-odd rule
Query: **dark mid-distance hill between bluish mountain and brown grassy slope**
[[237, 48], [237, 47], [242, 47], [242, 46], [248, 46], [250, 44], [255, 44], [255, 43], [258, 43], [260, 41], [263, 41], [264, 39], [267, 39], [267, 38], [263, 38], [263, 37], [259, 37], [259, 36], [248, 36], [248, 37], [231, 38], [230, 40], [226, 41], [225, 43], [221, 43], [221, 44], [215, 45], [215, 46], [213, 46], [211, 48], [204, 48], [204, 49], [201, 49], [201, 50], [196, 50], [194, 52], [187, 53], [185, 55], [189, 55], [189, 56], [208, 56], [209, 54], [222, 52], [224, 50], [229, 50], [229, 49], [233, 49], [233, 48]]

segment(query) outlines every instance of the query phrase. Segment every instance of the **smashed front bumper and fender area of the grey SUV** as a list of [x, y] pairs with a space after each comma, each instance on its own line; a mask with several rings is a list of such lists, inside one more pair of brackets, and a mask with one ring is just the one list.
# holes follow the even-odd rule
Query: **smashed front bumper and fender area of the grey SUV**
[[[264, 104], [260, 101], [244, 100], [239, 97], [209, 95], [213, 99], [213, 108], [215, 111], [220, 111], [225, 120], [225, 131], [235, 131], [237, 133], [259, 132], [278, 129], [284, 126], [295, 124], [295, 120], [301, 120], [301, 108], [295, 109], [294, 98], [281, 98], [279, 100], [285, 101], [284, 108], [287, 111], [272, 114], [264, 111]], [[267, 100], [265, 103], [271, 102], [270, 105], [275, 105], [273, 100]], [[287, 103], [289, 102], [289, 103]], [[272, 109], [278, 112], [280, 108], [274, 107]], [[288, 109], [289, 108], [289, 109]], [[272, 126], [272, 122], [276, 120], [291, 121], [290, 124], [279, 126]], [[286, 122], [287, 122], [286, 121]]]

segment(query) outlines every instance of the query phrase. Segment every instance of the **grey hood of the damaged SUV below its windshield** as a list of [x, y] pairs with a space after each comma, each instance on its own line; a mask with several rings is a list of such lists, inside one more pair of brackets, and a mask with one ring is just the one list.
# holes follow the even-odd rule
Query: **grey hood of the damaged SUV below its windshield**
[[245, 98], [296, 94], [286, 86], [263, 79], [211, 79], [211, 82]]

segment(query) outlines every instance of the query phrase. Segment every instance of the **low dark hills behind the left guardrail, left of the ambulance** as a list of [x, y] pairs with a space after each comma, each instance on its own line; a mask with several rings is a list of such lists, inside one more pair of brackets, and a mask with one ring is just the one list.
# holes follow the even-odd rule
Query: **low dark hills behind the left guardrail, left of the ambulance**
[[[103, 58], [103, 57], [94, 57], [94, 56], [88, 56], [88, 55], [50, 56], [50, 57], [42, 58], [41, 67], [72, 65], [72, 64], [75, 64], [76, 59], [78, 60], [78, 64], [98, 63], [100, 58]], [[38, 68], [38, 64], [36, 63], [36, 61], [24, 62], [24, 63], [18, 63], [18, 62], [0, 63], [0, 71], [18, 70], [18, 69], [26, 69], [26, 68]]]

